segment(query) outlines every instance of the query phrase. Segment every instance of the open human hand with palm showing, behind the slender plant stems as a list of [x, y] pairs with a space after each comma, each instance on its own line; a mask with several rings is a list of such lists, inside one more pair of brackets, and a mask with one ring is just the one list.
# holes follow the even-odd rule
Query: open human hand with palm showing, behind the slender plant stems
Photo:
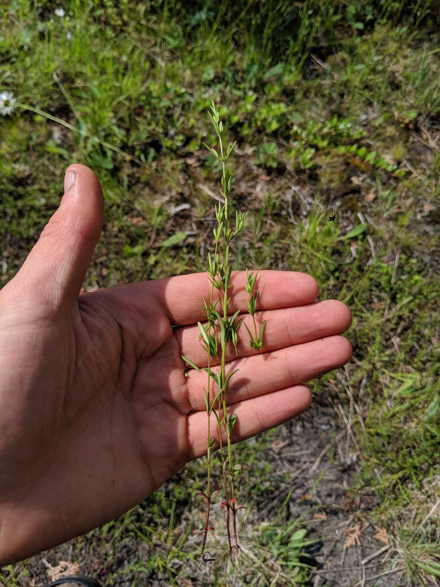
[[[80, 294], [103, 196], [81, 165], [68, 168], [65, 189], [0, 292], [0, 565], [117, 517], [206, 450], [204, 374], [185, 377], [180, 355], [205, 365], [197, 321], [207, 274]], [[245, 312], [245, 275], [232, 284], [231, 312]], [[313, 303], [312, 277], [260, 271], [258, 289], [265, 348], [244, 336], [238, 359], [229, 356], [239, 369], [228, 398], [233, 441], [301, 413], [311, 399], [303, 382], [351, 355], [339, 336], [350, 312]]]

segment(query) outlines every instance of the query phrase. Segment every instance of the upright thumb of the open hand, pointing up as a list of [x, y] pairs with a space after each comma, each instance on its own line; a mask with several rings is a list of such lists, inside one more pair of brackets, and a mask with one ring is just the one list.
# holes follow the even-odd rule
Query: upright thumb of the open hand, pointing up
[[67, 167], [64, 186], [60, 207], [12, 279], [22, 301], [38, 300], [46, 309], [76, 302], [104, 222], [101, 185], [89, 167]]

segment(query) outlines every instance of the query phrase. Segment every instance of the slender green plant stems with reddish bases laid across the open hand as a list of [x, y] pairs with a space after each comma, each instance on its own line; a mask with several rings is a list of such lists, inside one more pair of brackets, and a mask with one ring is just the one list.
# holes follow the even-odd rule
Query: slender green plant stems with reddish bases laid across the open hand
[[[207, 372], [207, 388], [203, 389], [205, 396], [205, 404], [208, 417], [208, 436], [207, 436], [207, 492], [202, 491], [207, 502], [207, 515], [205, 521], [205, 532], [202, 543], [202, 557], [205, 561], [212, 559], [205, 556], [205, 545], [209, 530], [214, 530], [214, 527], [209, 525], [209, 511], [211, 508], [211, 501], [217, 492], [211, 492], [211, 459], [215, 447], [215, 438], [211, 436], [211, 414], [214, 414], [218, 438], [219, 438], [219, 453], [222, 467], [222, 478], [224, 486], [224, 501], [221, 505], [226, 508], [226, 531], [228, 533], [229, 552], [232, 554], [232, 548], [239, 549], [237, 538], [236, 512], [244, 508], [244, 505], [236, 505], [236, 476], [239, 473], [241, 465], [233, 462], [233, 454], [231, 450], [231, 435], [234, 424], [236, 423], [236, 414], [228, 414], [226, 405], [228, 403], [228, 386], [231, 378], [237, 372], [237, 369], [226, 375], [226, 353], [228, 345], [231, 343], [237, 355], [238, 344], [238, 329], [242, 323], [242, 318], [239, 318], [240, 311], [236, 311], [231, 315], [229, 306], [231, 297], [228, 295], [228, 290], [231, 288], [231, 274], [232, 274], [232, 251], [231, 243], [245, 228], [249, 226], [246, 223], [247, 212], [235, 211], [235, 222], [231, 221], [232, 216], [232, 176], [226, 167], [235, 143], [224, 144], [225, 129], [220, 119], [221, 109], [218, 109], [214, 102], [212, 102], [211, 118], [215, 133], [218, 137], [219, 151], [214, 147], [209, 147], [204, 143], [209, 152], [222, 164], [222, 202], [215, 207], [215, 215], [217, 225], [214, 228], [215, 250], [214, 255], [208, 253], [207, 272], [209, 281], [211, 283], [211, 293], [209, 300], [204, 299], [204, 309], [207, 322], [203, 325], [198, 323], [200, 330], [199, 340], [207, 352], [208, 366], [205, 367]], [[249, 344], [253, 349], [260, 350], [263, 347], [263, 333], [265, 330], [265, 322], [262, 323], [258, 331], [255, 321], [255, 312], [258, 299], [258, 290], [255, 290], [255, 284], [258, 274], [249, 273], [246, 269], [246, 292], [249, 295], [248, 312], [252, 316], [254, 334], [245, 324], [245, 328], [249, 333]], [[217, 294], [218, 292], [218, 294]], [[189, 365], [198, 369], [186, 357], [182, 357]], [[216, 373], [211, 369], [212, 363], [218, 366]], [[214, 385], [215, 384], [215, 385]], [[212, 397], [214, 396], [214, 397]], [[212, 399], [211, 399], [212, 397]], [[224, 436], [226, 437], [226, 445], [224, 446]], [[232, 516], [232, 530], [233, 530], [233, 544], [231, 539], [231, 516]]]

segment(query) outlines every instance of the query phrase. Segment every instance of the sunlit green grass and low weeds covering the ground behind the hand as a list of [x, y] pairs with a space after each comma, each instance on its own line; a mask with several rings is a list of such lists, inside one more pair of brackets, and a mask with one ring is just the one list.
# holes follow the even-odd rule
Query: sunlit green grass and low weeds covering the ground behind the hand
[[[0, 92], [21, 104], [0, 117], [0, 284], [56, 210], [74, 161], [96, 171], [106, 198], [87, 289], [203, 271], [220, 174], [202, 146], [214, 145], [207, 120], [214, 99], [237, 141], [235, 198], [251, 218], [236, 268], [310, 272], [321, 299], [350, 306], [353, 360], [312, 389], [347, 420], [357, 454], [353, 491], [374, 496], [373, 515], [395, 548], [390, 565], [397, 561], [409, 584], [436, 584], [438, 4], [72, 0], [62, 7], [64, 16], [53, 1], [0, 7]], [[272, 486], [272, 464], [259, 451], [273, 434], [236, 451], [248, 467], [248, 502]], [[193, 565], [195, 581], [205, 468], [203, 460], [189, 465], [139, 508], [78, 539], [79, 559], [98, 542], [107, 551], [94, 571], [111, 560], [100, 575], [108, 585], [124, 576], [127, 585], [145, 584], [145, 576], [184, 585], [182, 565]], [[212, 584], [226, 585], [231, 573], [238, 584], [307, 583], [303, 519], [283, 512], [280, 504], [269, 523], [249, 518], [255, 548], [239, 572], [225, 557]], [[118, 566], [110, 546], [124, 552], [136, 539], [145, 552]], [[27, 584], [29, 565], [4, 569], [0, 579]]]

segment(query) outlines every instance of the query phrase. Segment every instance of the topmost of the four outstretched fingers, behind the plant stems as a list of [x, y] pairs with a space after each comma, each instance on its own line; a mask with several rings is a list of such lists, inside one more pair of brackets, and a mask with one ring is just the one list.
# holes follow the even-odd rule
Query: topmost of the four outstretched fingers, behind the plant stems
[[[211, 282], [207, 273], [180, 275], [153, 282], [155, 294], [174, 325], [182, 326], [201, 321], [205, 317], [203, 299], [209, 301]], [[236, 271], [231, 276], [229, 313], [245, 312], [249, 294], [245, 291], [246, 273]], [[302, 306], [313, 302], [319, 292], [316, 279], [296, 271], [259, 271], [257, 309], [270, 310]], [[219, 292], [214, 288], [214, 298]]]

